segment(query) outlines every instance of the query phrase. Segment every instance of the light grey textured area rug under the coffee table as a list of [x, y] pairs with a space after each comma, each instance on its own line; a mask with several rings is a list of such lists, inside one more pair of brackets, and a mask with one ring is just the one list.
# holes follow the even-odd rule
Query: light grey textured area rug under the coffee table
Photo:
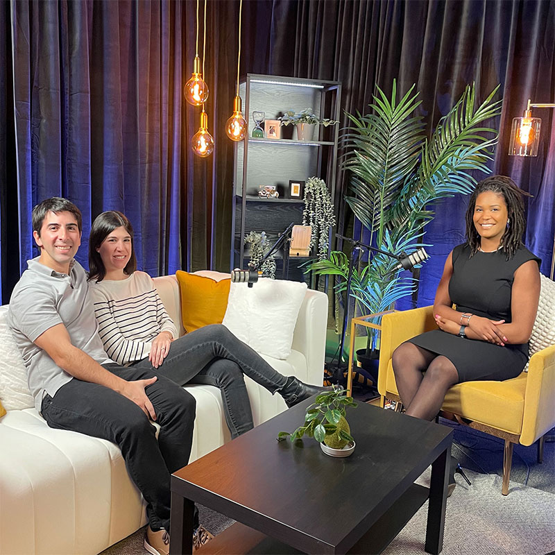
[[[460, 475], [447, 499], [443, 555], [545, 555], [555, 551], [555, 495], [517, 482], [501, 495], [501, 477], [466, 470], [472, 486]], [[429, 485], [429, 470], [418, 479]], [[384, 555], [424, 555], [427, 502], [411, 518]], [[212, 533], [232, 520], [200, 507], [200, 522]], [[144, 529], [103, 555], [144, 555]]]

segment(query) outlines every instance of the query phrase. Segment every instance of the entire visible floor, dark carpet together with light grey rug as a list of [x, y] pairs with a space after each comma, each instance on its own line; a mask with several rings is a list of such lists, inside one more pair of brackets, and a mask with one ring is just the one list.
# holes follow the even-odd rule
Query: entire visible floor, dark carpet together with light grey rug
[[[444, 425], [452, 425], [441, 420]], [[472, 486], [459, 484], [447, 500], [443, 555], [546, 555], [555, 551], [555, 443], [545, 443], [543, 464], [536, 446], [515, 446], [509, 495], [501, 495], [503, 443], [475, 430], [453, 425], [452, 454], [468, 470]], [[553, 432], [551, 432], [553, 434]], [[429, 471], [419, 481], [427, 484]], [[389, 545], [386, 555], [425, 554], [427, 504], [413, 516]], [[229, 519], [200, 509], [200, 522], [212, 533], [223, 531]], [[144, 555], [144, 531], [139, 530], [102, 555]]]

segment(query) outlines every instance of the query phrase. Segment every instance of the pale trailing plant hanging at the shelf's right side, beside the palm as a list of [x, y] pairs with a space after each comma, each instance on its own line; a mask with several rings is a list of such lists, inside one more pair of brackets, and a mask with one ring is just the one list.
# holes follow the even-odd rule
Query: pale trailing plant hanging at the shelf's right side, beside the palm
[[324, 180], [316, 177], [307, 179], [303, 196], [302, 225], [311, 226], [310, 248], [317, 244], [318, 259], [322, 260], [327, 257], [330, 230], [335, 225], [332, 197]]

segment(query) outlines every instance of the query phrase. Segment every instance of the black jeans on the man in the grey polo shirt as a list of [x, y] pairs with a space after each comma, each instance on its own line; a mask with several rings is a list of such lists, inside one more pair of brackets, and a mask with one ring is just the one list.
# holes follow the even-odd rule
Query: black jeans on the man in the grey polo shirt
[[[126, 379], [148, 379], [153, 372], [137, 366], [106, 365]], [[170, 379], [159, 376], [145, 388], [155, 409], [160, 434], [137, 404], [99, 384], [71, 382], [42, 400], [42, 416], [51, 428], [68, 429], [112, 441], [121, 449], [127, 470], [141, 491], [151, 528], [169, 530], [170, 475], [189, 461], [195, 400]]]

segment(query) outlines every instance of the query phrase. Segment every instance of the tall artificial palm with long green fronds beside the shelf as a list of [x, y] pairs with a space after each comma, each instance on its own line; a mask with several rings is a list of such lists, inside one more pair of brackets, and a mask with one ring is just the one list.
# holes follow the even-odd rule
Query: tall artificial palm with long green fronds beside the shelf
[[[370, 244], [400, 255], [416, 250], [425, 225], [434, 217], [430, 205], [447, 196], [469, 194], [476, 185], [472, 171], [488, 173], [497, 131], [484, 121], [500, 113], [502, 101], [493, 101], [496, 87], [477, 105], [475, 85], [467, 86], [452, 110], [426, 133], [415, 115], [420, 105], [415, 85], [398, 101], [393, 81], [391, 101], [377, 88], [366, 115], [347, 114], [343, 130], [345, 155], [341, 167], [350, 173], [345, 201], [370, 232]], [[345, 290], [348, 257], [332, 251], [329, 259], [314, 262], [316, 274], [339, 275], [337, 289]], [[351, 296], [366, 314], [387, 310], [415, 288], [411, 277], [395, 271], [395, 259], [370, 257], [353, 272]], [[370, 345], [368, 345], [368, 349]]]

